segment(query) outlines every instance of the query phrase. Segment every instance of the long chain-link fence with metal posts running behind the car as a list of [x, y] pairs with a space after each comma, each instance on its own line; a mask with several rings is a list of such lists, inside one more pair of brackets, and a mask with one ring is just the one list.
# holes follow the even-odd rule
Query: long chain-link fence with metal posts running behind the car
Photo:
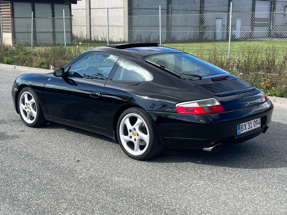
[[159, 7], [153, 14], [129, 16], [123, 14], [123, 8], [93, 9], [89, 19], [81, 13], [71, 16], [65, 10], [55, 11], [54, 18], [45, 13], [22, 14], [11, 19], [12, 44], [89, 49], [117, 43], [158, 42], [190, 52], [210, 44], [231, 51], [237, 50], [240, 42], [258, 42], [255, 46], [276, 44], [282, 51], [287, 45], [284, 12], [166, 15], [166, 10]]

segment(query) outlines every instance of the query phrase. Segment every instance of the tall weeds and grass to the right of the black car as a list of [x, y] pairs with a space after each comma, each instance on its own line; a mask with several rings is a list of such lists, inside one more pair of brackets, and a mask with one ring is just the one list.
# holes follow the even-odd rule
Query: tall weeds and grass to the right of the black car
[[196, 54], [251, 83], [268, 96], [287, 98], [287, 51], [279, 52], [274, 45], [263, 52], [258, 47], [241, 47], [229, 60], [225, 52], [216, 46], [207, 54], [203, 53], [201, 47]]

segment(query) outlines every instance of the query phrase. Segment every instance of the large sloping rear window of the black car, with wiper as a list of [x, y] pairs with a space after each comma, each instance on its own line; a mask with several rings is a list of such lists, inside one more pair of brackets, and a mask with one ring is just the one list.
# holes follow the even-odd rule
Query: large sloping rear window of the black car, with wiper
[[188, 79], [191, 75], [210, 76], [228, 74], [226, 71], [196, 58], [188, 53], [166, 53], [148, 56], [150, 61], [173, 72], [179, 73], [181, 78]]

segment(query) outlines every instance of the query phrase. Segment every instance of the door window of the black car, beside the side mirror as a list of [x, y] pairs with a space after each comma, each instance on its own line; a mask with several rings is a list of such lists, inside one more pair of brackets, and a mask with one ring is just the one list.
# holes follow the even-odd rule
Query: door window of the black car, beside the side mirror
[[83, 56], [72, 64], [69, 70], [70, 77], [107, 80], [117, 56], [104, 53], [91, 53]]

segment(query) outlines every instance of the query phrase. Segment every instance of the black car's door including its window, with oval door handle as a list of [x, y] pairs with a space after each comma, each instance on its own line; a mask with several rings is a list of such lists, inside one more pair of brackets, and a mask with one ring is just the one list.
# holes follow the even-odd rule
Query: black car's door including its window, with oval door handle
[[118, 57], [88, 53], [73, 62], [67, 77], [53, 77], [44, 87], [48, 115], [88, 124], [97, 112], [103, 87]]

